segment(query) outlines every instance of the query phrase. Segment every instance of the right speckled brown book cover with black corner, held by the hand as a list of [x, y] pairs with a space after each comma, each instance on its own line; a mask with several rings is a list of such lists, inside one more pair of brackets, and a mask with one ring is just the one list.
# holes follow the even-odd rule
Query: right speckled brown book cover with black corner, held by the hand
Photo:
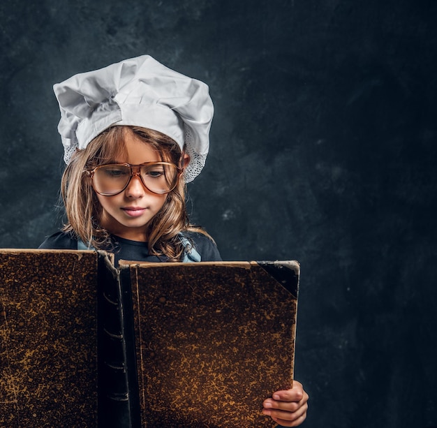
[[125, 263], [120, 278], [142, 427], [276, 426], [261, 409], [292, 383], [296, 262]]

